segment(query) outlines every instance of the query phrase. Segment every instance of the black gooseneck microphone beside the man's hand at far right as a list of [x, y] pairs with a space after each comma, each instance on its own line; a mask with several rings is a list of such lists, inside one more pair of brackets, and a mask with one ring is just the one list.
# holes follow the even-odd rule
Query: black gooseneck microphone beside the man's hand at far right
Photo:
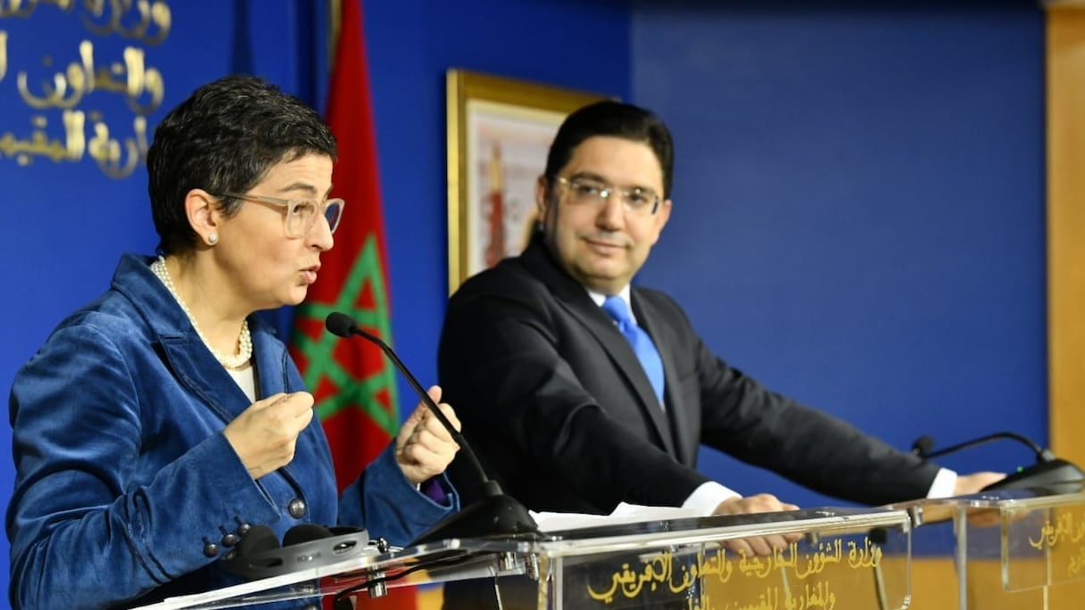
[[975, 445], [982, 445], [991, 441], [997, 441], [999, 439], [1010, 439], [1026, 445], [1036, 455], [1036, 463], [1026, 468], [1019, 468], [1017, 472], [1010, 474], [1006, 479], [984, 487], [984, 492], [1030, 488], [1048, 490], [1054, 493], [1061, 494], [1077, 492], [1081, 490], [1082, 484], [1085, 483], [1085, 472], [1083, 472], [1082, 469], [1064, 459], [1055, 457], [1055, 453], [1052, 453], [1051, 449], [1045, 449], [1030, 439], [1016, 432], [995, 432], [994, 434], [987, 434], [986, 436], [980, 436], [979, 439], [958, 443], [936, 452], [931, 450], [934, 447], [934, 439], [923, 435], [916, 439], [916, 442], [911, 444], [911, 450], [917, 456], [928, 459], [959, 452], [960, 449], [974, 447]]

